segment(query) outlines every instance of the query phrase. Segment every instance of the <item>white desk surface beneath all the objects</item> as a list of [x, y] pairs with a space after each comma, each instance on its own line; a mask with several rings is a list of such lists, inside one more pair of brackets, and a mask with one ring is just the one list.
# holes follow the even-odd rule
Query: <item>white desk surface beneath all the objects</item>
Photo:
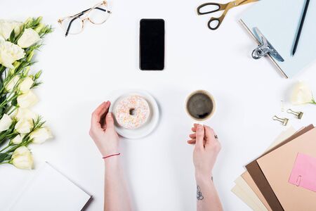
[[[230, 191], [233, 181], [284, 130], [271, 118], [287, 115], [281, 113], [280, 101], [287, 100], [294, 82], [309, 82], [316, 94], [316, 65], [294, 79], [283, 79], [268, 59], [250, 56], [255, 42], [237, 23], [250, 5], [229, 11], [214, 32], [206, 27], [211, 15], [197, 16], [195, 12], [205, 2], [111, 0], [112, 15], [104, 25], [86, 23], [84, 32], [65, 38], [57, 19], [98, 1], [1, 1], [0, 18], [24, 20], [43, 15], [55, 27], [34, 66], [44, 70], [44, 84], [36, 91], [41, 101], [34, 110], [45, 117], [55, 139], [32, 146], [35, 170], [0, 166], [1, 210], [45, 160], [93, 195], [87, 210], [103, 209], [103, 160], [88, 129], [94, 108], [120, 89], [150, 92], [161, 110], [159, 126], [150, 136], [121, 139], [135, 210], [195, 210], [193, 148], [186, 143], [193, 121], [185, 113], [184, 102], [196, 89], [210, 91], [218, 104], [216, 115], [205, 124], [216, 130], [223, 146], [214, 180], [224, 209], [249, 210]], [[166, 21], [166, 68], [162, 72], [138, 69], [141, 18]], [[316, 123], [315, 106], [296, 109], [305, 112], [303, 120], [289, 115], [290, 124], [299, 128]]]

